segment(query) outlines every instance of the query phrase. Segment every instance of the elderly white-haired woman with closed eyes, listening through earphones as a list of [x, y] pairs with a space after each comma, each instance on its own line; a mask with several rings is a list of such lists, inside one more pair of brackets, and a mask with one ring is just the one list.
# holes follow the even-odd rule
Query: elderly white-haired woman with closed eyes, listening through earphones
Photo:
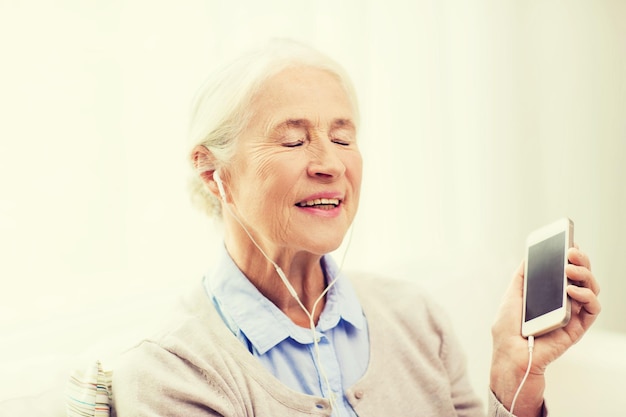
[[[484, 416], [445, 316], [411, 283], [344, 274], [328, 255], [359, 204], [359, 114], [344, 71], [274, 41], [201, 90], [190, 158], [224, 246], [180, 315], [124, 354], [124, 416]], [[544, 370], [600, 311], [571, 249], [569, 324], [537, 340], [519, 416], [540, 416]], [[493, 326], [488, 410], [508, 416], [528, 362], [523, 269]]]

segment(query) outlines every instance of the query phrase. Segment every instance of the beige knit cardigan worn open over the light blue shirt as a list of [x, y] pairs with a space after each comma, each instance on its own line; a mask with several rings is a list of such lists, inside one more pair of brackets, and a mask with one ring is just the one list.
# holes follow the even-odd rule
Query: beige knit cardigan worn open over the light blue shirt
[[[360, 417], [484, 416], [445, 315], [413, 284], [352, 283], [367, 317], [365, 375], [346, 391]], [[157, 337], [124, 353], [113, 403], [126, 416], [330, 416], [329, 402], [273, 377], [227, 329], [202, 286]], [[489, 391], [489, 416], [510, 416]]]

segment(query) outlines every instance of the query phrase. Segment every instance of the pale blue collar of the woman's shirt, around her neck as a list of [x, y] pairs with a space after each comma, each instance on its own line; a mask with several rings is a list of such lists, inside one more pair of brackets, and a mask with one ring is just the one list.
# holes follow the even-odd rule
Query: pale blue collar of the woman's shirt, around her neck
[[[321, 265], [329, 280], [340, 272], [329, 255], [322, 257]], [[236, 335], [242, 332], [260, 354], [288, 337], [302, 344], [313, 343], [311, 331], [294, 324], [265, 298], [239, 270], [225, 247], [215, 268], [205, 276], [204, 282], [221, 310], [226, 325]], [[328, 331], [342, 320], [358, 329], [365, 327], [365, 318], [356, 293], [350, 281], [340, 274], [337, 282], [328, 291], [316, 329]]]

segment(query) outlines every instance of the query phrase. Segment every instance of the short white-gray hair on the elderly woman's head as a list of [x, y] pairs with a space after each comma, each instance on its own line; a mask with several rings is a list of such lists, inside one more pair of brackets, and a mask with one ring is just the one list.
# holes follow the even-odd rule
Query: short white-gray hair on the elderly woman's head
[[208, 191], [202, 173], [229, 163], [237, 139], [252, 118], [250, 104], [263, 84], [279, 72], [298, 66], [318, 68], [335, 76], [346, 91], [358, 125], [356, 93], [347, 73], [336, 61], [310, 46], [273, 39], [221, 67], [198, 90], [189, 126], [190, 149], [202, 145], [216, 161], [215, 166], [200, 169], [192, 163], [190, 181], [193, 202], [210, 216], [221, 217], [221, 204]]

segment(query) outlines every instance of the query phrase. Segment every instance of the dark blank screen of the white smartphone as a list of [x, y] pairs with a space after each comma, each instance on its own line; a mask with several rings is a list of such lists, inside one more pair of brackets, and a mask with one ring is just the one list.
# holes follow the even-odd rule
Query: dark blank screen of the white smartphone
[[563, 306], [565, 244], [563, 232], [528, 249], [526, 321]]

